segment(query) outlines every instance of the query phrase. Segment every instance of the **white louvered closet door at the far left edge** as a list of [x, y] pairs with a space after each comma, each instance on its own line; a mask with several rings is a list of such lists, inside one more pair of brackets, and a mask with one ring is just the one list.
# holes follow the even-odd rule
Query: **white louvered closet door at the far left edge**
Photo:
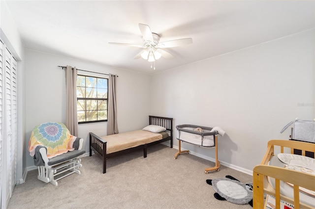
[[0, 206], [6, 208], [16, 182], [17, 61], [4, 44], [0, 45]]

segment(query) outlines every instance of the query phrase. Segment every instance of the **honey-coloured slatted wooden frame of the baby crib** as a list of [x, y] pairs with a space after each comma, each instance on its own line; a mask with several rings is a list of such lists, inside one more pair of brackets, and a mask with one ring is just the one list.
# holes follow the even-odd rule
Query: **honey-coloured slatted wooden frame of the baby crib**
[[[305, 156], [306, 151], [315, 152], [314, 143], [270, 140], [260, 165], [255, 166], [253, 169], [253, 209], [265, 208], [264, 193], [276, 198], [276, 209], [280, 209], [280, 200], [294, 205], [294, 209], [299, 209], [300, 206], [306, 209], [315, 209], [312, 206], [301, 203], [299, 199], [299, 186], [315, 191], [315, 175], [268, 165], [270, 158], [275, 155], [274, 150], [276, 146], [280, 147], [280, 153], [284, 153], [284, 148], [289, 148], [291, 154], [294, 153], [294, 149], [301, 150], [302, 156]], [[275, 179], [276, 189], [268, 183], [267, 176]], [[294, 199], [280, 193], [280, 181], [294, 185]]]

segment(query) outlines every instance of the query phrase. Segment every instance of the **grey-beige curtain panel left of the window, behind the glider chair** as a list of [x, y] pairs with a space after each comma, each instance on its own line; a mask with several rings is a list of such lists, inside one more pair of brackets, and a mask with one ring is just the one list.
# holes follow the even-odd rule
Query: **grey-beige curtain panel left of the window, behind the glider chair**
[[66, 118], [65, 126], [70, 134], [78, 136], [78, 116], [77, 116], [77, 69], [67, 66], [65, 70], [66, 85]]

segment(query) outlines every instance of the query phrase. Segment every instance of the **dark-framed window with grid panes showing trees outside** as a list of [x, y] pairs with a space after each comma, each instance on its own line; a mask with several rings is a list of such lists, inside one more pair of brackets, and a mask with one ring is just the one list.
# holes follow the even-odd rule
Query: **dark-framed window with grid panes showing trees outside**
[[108, 78], [77, 75], [78, 123], [107, 121]]

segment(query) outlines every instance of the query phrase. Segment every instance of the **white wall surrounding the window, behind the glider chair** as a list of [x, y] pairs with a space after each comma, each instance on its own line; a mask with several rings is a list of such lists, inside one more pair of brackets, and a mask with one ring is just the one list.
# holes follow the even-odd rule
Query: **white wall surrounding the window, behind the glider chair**
[[[70, 65], [98, 73], [117, 74], [117, 110], [120, 132], [143, 128], [148, 124], [150, 112], [150, 79], [146, 74], [135, 73], [111, 66], [91, 63], [32, 50], [26, 50], [26, 135], [45, 122], [65, 122], [65, 73], [58, 66]], [[84, 73], [84, 72], [78, 72]], [[98, 74], [94, 74], [97, 76]], [[79, 125], [78, 136], [85, 138], [88, 152], [88, 133], [106, 135], [107, 123]], [[28, 141], [26, 142], [28, 143]], [[28, 153], [27, 150], [25, 150]], [[32, 166], [27, 155], [27, 166]]]

